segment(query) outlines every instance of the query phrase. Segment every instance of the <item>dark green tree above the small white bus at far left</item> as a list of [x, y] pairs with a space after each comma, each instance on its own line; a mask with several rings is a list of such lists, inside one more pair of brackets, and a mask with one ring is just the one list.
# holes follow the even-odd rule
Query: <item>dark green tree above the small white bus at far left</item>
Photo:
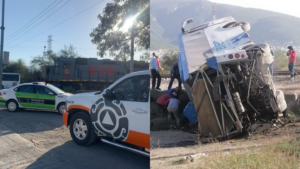
[[4, 73], [19, 73], [21, 82], [26, 81], [25, 72], [28, 71], [25, 60], [17, 59], [17, 60], [9, 60], [8, 65], [3, 66]]

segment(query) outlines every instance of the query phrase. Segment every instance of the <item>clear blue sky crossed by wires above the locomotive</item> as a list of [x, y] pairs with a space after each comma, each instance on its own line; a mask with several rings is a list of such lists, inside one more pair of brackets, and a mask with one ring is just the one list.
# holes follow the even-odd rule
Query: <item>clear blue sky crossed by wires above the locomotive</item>
[[[86, 58], [97, 58], [97, 46], [93, 45], [91, 42], [91, 37], [89, 34], [92, 32], [93, 28], [98, 26], [98, 14], [103, 12], [103, 9], [106, 6], [106, 3], [111, 2], [111, 0], [6, 0], [5, 9], [4, 9], [4, 51], [9, 51], [9, 59], [25, 59], [26, 63], [29, 64], [31, 56], [42, 55], [44, 51], [44, 46], [46, 50], [48, 49], [47, 38], [48, 35], [52, 35], [52, 50], [57, 52], [59, 49], [63, 49], [64, 44], [72, 44], [78, 51], [78, 54]], [[61, 1], [61, 2], [60, 2]], [[68, 2], [69, 1], [69, 2]], [[60, 3], [58, 3], [60, 2]], [[68, 2], [68, 3], [67, 3]], [[47, 8], [50, 4], [52, 4]], [[51, 9], [54, 5], [56, 5]], [[65, 4], [66, 3], [66, 4]], [[64, 20], [76, 15], [77, 13], [99, 3], [98, 5], [86, 10], [83, 13], [69, 19], [68, 21], [54, 27], [46, 32], [45, 30], [53, 27], [54, 25], [63, 22]], [[63, 4], [65, 4], [63, 6]], [[0, 3], [2, 6], [2, 1]], [[62, 8], [60, 8], [63, 6]], [[47, 8], [47, 9], [46, 9]], [[60, 9], [58, 9], [60, 8]], [[46, 9], [41, 15], [42, 16], [48, 10], [44, 16], [37, 20], [35, 18], [39, 13]], [[58, 9], [58, 11], [56, 11]], [[2, 8], [0, 8], [2, 12]], [[53, 13], [56, 11], [55, 13]], [[50, 17], [48, 17], [53, 13]], [[1, 13], [0, 13], [1, 15]], [[48, 17], [48, 18], [47, 18]], [[31, 26], [26, 28], [21, 33], [15, 33], [18, 29], [22, 28], [26, 23], [37, 20]], [[47, 18], [47, 19], [45, 19]], [[43, 22], [41, 22], [45, 19]], [[41, 22], [41, 23], [40, 23]], [[40, 24], [38, 24], [40, 23]], [[38, 24], [38, 25], [37, 25]], [[36, 27], [34, 27], [37, 25]], [[33, 28], [34, 27], [34, 28]], [[23, 30], [22, 28], [21, 30]], [[32, 30], [30, 30], [33, 28]], [[21, 31], [20, 30], [20, 31]], [[30, 30], [29, 32], [27, 32]], [[19, 31], [19, 32], [20, 32]], [[27, 32], [27, 33], [26, 33]], [[42, 33], [44, 32], [44, 33]], [[9, 37], [9, 35], [15, 33], [16, 37]], [[23, 33], [25, 33], [23, 35]], [[37, 35], [42, 33], [40, 35]], [[22, 36], [21, 36], [22, 35]], [[36, 36], [37, 35], [37, 36]], [[20, 38], [18, 38], [21, 36]], [[36, 36], [36, 37], [34, 37]], [[11, 38], [9, 40], [9, 38]], [[12, 38], [13, 37], [13, 38]], [[34, 38], [32, 38], [34, 37]], [[32, 38], [32, 39], [29, 39]], [[12, 41], [13, 39], [16, 39]], [[28, 41], [23, 42], [24, 40], [29, 39]], [[10, 43], [11, 42], [11, 43]], [[21, 43], [22, 42], [22, 43]], [[19, 44], [21, 43], [21, 44]], [[98, 59], [101, 59], [98, 57]], [[113, 59], [109, 56], [105, 56], [103, 59]], [[135, 60], [139, 60], [139, 55], [135, 54]]]

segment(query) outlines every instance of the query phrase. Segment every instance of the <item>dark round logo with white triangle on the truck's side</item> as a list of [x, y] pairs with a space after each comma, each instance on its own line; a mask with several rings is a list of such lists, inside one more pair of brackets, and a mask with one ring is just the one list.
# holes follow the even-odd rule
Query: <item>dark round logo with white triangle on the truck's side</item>
[[128, 119], [120, 100], [97, 100], [90, 109], [97, 134], [124, 141], [128, 137]]

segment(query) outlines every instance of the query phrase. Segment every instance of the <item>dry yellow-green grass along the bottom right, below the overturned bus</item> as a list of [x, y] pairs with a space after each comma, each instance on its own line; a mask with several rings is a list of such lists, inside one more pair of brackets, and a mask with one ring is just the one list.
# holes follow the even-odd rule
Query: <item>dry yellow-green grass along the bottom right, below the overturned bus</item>
[[183, 168], [299, 168], [300, 167], [300, 139], [292, 139], [263, 148], [233, 151], [229, 155], [216, 152], [210, 156], [196, 159], [193, 163], [186, 159], [178, 159], [173, 165], [185, 164]]

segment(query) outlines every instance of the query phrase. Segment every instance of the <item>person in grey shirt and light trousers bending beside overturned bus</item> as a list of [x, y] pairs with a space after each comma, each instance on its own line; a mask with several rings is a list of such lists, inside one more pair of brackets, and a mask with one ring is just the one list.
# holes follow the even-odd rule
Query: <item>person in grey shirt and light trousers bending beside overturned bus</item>
[[172, 120], [172, 114], [173, 114], [176, 119], [177, 127], [180, 127], [180, 110], [179, 110], [180, 101], [177, 98], [175, 98], [175, 95], [173, 98], [170, 98], [168, 101], [169, 101], [167, 107], [168, 120]]

